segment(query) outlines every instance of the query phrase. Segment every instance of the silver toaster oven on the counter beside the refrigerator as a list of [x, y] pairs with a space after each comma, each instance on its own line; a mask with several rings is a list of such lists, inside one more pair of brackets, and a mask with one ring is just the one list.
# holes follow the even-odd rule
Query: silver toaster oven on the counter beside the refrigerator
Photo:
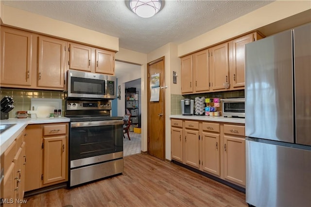
[[225, 117], [245, 117], [245, 98], [221, 99], [222, 114]]

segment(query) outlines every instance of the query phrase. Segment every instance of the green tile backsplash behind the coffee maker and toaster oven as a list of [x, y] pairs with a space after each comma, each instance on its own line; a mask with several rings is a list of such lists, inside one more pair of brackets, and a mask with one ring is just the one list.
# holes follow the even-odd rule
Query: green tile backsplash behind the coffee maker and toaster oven
[[180, 101], [184, 98], [194, 99], [195, 97], [206, 97], [206, 98], [238, 98], [244, 97], [244, 90], [229, 91], [229, 92], [214, 92], [205, 94], [191, 94], [191, 95], [178, 95], [171, 94], [171, 115], [181, 114], [181, 103]]

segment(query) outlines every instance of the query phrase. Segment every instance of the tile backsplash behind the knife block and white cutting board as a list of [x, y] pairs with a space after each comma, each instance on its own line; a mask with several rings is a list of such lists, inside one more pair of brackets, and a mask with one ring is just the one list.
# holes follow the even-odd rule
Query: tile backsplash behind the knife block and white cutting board
[[62, 91], [43, 91], [43, 90], [26, 90], [26, 89], [0, 89], [0, 98], [11, 96], [14, 99], [15, 108], [9, 112], [9, 118], [15, 118], [17, 111], [31, 110], [31, 98], [61, 98], [63, 100], [63, 109], [65, 109], [65, 93]]

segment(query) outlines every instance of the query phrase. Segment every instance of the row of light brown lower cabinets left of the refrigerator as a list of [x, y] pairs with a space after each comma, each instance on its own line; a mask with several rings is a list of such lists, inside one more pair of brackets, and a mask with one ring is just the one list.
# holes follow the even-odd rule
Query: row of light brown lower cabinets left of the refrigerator
[[244, 124], [171, 119], [171, 126], [173, 160], [245, 187]]

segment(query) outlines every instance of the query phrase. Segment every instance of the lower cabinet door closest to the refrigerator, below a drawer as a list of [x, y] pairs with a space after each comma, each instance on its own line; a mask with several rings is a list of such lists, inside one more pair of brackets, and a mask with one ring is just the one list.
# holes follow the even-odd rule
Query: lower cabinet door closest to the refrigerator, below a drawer
[[245, 185], [245, 138], [224, 136], [225, 179]]

